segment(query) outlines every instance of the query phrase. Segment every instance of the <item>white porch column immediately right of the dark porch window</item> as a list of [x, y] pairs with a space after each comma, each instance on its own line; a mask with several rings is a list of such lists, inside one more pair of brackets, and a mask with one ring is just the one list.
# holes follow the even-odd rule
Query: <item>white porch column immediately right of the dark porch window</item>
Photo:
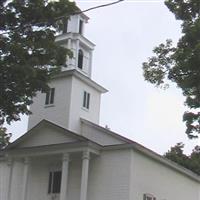
[[69, 154], [66, 153], [66, 154], [63, 154], [63, 160], [62, 160], [62, 179], [61, 179], [60, 200], [67, 199], [68, 170], [69, 170]]

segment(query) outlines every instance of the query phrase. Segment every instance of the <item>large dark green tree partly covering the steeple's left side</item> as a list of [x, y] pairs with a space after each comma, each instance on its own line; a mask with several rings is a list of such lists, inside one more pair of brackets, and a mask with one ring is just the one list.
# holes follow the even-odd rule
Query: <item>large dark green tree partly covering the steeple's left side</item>
[[50, 77], [72, 56], [55, 35], [77, 11], [68, 0], [0, 1], [0, 146], [9, 141], [5, 122], [30, 114], [32, 97], [48, 89]]

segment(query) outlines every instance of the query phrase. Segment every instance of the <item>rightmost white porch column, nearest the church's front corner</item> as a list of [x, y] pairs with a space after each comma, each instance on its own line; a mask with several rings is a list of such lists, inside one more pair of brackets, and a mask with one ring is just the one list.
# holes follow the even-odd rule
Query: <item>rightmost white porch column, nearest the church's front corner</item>
[[83, 152], [80, 200], [87, 200], [89, 160], [90, 152]]

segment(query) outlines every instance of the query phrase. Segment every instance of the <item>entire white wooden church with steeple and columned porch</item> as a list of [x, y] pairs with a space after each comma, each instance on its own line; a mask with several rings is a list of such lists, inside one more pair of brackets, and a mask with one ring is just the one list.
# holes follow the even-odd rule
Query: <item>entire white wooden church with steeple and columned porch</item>
[[[0, 152], [0, 200], [200, 200], [200, 177], [99, 125], [88, 17], [56, 42], [73, 58], [31, 106], [28, 132]], [[114, 117], [114, 116], [113, 116]]]

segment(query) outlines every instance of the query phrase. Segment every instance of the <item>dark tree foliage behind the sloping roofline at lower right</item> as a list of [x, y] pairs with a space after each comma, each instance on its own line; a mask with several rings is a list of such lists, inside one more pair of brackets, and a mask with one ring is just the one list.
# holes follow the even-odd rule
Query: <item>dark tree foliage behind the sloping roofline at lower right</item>
[[164, 157], [200, 175], [200, 146], [196, 146], [188, 156], [183, 153], [183, 148], [184, 144], [178, 143]]

